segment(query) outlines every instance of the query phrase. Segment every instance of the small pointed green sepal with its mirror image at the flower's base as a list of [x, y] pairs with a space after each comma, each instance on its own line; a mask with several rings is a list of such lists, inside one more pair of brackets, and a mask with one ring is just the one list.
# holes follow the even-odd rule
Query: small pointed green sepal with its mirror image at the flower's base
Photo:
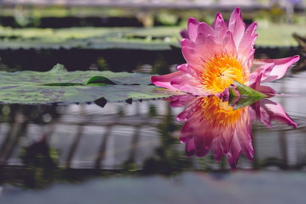
[[263, 93], [237, 81], [234, 81], [234, 87], [229, 87], [229, 105], [234, 106], [233, 110], [251, 105], [264, 97], [266, 97], [266, 95]]

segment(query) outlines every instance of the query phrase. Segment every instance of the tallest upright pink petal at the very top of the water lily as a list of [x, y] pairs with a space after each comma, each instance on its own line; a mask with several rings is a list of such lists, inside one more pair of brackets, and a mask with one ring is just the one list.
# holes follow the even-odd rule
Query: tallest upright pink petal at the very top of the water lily
[[234, 34], [233, 39], [235, 45], [238, 47], [245, 31], [245, 23], [243, 23], [239, 7], [237, 7], [231, 15], [228, 29]]

